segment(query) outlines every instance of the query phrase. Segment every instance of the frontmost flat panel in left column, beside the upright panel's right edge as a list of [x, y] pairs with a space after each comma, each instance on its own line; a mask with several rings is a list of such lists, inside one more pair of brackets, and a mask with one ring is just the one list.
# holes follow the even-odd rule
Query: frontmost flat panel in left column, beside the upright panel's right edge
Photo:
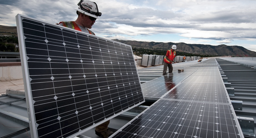
[[174, 82], [146, 82], [141, 87], [145, 98], [160, 98], [176, 85]]

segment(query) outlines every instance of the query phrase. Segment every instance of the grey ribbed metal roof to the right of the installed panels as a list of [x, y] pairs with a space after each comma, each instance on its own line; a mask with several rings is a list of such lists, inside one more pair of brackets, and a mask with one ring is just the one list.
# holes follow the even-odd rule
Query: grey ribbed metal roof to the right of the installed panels
[[235, 94], [230, 100], [243, 101], [242, 110], [235, 110], [236, 115], [254, 118], [256, 126], [256, 70], [254, 66], [248, 67], [256, 65], [256, 58], [220, 58], [217, 62], [234, 88]]

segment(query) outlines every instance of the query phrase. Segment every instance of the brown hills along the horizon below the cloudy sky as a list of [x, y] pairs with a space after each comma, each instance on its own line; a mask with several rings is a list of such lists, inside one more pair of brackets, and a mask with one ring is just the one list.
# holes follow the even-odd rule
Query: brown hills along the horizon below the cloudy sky
[[[17, 36], [16, 26], [3, 26], [0, 25], [0, 35], [15, 35]], [[144, 42], [133, 40], [118, 40], [114, 41], [131, 45], [137, 48], [149, 48], [149, 49], [163, 49], [169, 50], [171, 46], [175, 44], [177, 51], [187, 52], [193, 54], [203, 55], [217, 55], [217, 56], [242, 56], [242, 57], [256, 57], [256, 52], [250, 51], [242, 46], [227, 46], [225, 44], [213, 46], [204, 44], [186, 44], [186, 43], [163, 43], [163, 42]]]

